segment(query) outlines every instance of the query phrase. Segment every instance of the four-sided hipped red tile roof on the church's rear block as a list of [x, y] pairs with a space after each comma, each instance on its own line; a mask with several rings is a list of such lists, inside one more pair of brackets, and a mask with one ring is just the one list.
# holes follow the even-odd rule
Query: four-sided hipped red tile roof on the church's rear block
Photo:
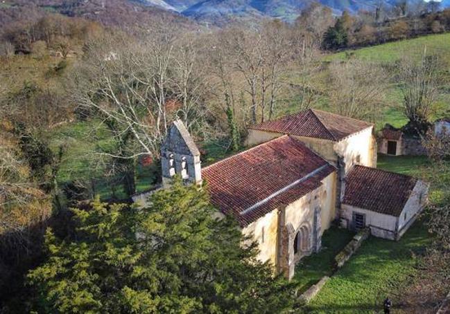
[[372, 125], [334, 113], [309, 109], [254, 125], [250, 129], [338, 141]]

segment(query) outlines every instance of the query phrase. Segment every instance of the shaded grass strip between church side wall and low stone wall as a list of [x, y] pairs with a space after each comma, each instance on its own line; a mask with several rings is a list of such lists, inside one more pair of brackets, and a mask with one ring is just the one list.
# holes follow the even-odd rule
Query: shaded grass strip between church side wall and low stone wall
[[333, 273], [334, 257], [343, 250], [354, 236], [354, 232], [332, 226], [322, 236], [322, 250], [317, 254], [305, 257], [295, 268], [294, 281], [300, 289], [300, 293], [307, 290], [313, 284], [317, 284], [320, 278], [331, 276]]

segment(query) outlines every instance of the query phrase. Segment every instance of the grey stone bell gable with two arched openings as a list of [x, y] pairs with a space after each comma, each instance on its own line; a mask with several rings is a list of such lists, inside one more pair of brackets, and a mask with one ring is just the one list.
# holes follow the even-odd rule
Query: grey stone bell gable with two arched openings
[[202, 183], [200, 151], [182, 120], [175, 120], [161, 145], [162, 183], [166, 186], [175, 175], [189, 183]]

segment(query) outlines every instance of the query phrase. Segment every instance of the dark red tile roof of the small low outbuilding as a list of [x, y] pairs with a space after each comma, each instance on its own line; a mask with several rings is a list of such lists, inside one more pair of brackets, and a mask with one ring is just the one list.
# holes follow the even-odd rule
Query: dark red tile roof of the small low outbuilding
[[345, 183], [343, 204], [398, 217], [417, 179], [356, 165], [345, 178]]

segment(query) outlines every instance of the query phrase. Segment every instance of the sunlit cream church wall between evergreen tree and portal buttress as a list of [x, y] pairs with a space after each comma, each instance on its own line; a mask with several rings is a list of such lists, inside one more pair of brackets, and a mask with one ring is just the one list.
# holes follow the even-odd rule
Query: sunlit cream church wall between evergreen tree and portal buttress
[[277, 210], [272, 210], [272, 212], [250, 223], [242, 230], [245, 236], [253, 234], [253, 239], [259, 243], [260, 252], [258, 259], [260, 261], [270, 261], [274, 266], [277, 255], [277, 226]]

